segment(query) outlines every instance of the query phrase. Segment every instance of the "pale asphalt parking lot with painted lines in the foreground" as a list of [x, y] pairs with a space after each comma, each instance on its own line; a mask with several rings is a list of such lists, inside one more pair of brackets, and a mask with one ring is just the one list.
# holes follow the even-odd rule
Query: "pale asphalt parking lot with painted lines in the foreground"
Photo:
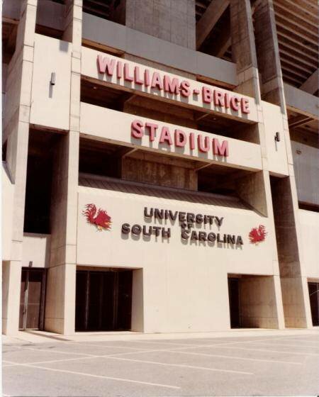
[[6, 396], [316, 396], [319, 333], [3, 346]]

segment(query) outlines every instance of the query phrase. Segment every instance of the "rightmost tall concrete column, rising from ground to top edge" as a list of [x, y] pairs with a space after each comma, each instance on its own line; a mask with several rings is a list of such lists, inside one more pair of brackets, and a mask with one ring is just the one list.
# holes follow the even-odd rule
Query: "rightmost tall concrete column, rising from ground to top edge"
[[298, 227], [298, 196], [293, 172], [288, 117], [281, 74], [273, 0], [260, 0], [254, 11], [257, 61], [262, 77], [262, 99], [280, 106], [284, 124], [289, 177], [272, 185], [276, 214], [282, 301], [286, 327], [312, 327], [306, 276], [303, 274]]

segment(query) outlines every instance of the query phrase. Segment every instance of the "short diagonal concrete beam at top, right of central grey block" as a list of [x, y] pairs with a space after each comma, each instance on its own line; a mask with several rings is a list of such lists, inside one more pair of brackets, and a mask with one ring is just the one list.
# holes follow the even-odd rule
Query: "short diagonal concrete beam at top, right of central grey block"
[[196, 48], [203, 44], [206, 37], [229, 6], [229, 0], [212, 0], [203, 16], [196, 24]]

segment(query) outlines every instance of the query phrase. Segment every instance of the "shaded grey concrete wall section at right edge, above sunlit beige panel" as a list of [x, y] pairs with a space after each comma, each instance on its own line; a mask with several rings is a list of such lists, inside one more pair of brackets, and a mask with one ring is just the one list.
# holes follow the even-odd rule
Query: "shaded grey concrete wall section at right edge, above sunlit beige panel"
[[319, 205], [319, 150], [291, 140], [298, 200]]

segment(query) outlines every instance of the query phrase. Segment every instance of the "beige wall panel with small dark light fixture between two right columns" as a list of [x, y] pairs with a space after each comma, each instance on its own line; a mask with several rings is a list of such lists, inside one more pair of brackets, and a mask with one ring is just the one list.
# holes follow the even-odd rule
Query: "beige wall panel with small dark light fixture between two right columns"
[[[268, 170], [273, 174], [288, 175], [284, 123], [281, 109], [279, 106], [262, 101], [262, 111], [264, 116]], [[274, 140], [277, 132], [280, 135], [280, 142]]]

